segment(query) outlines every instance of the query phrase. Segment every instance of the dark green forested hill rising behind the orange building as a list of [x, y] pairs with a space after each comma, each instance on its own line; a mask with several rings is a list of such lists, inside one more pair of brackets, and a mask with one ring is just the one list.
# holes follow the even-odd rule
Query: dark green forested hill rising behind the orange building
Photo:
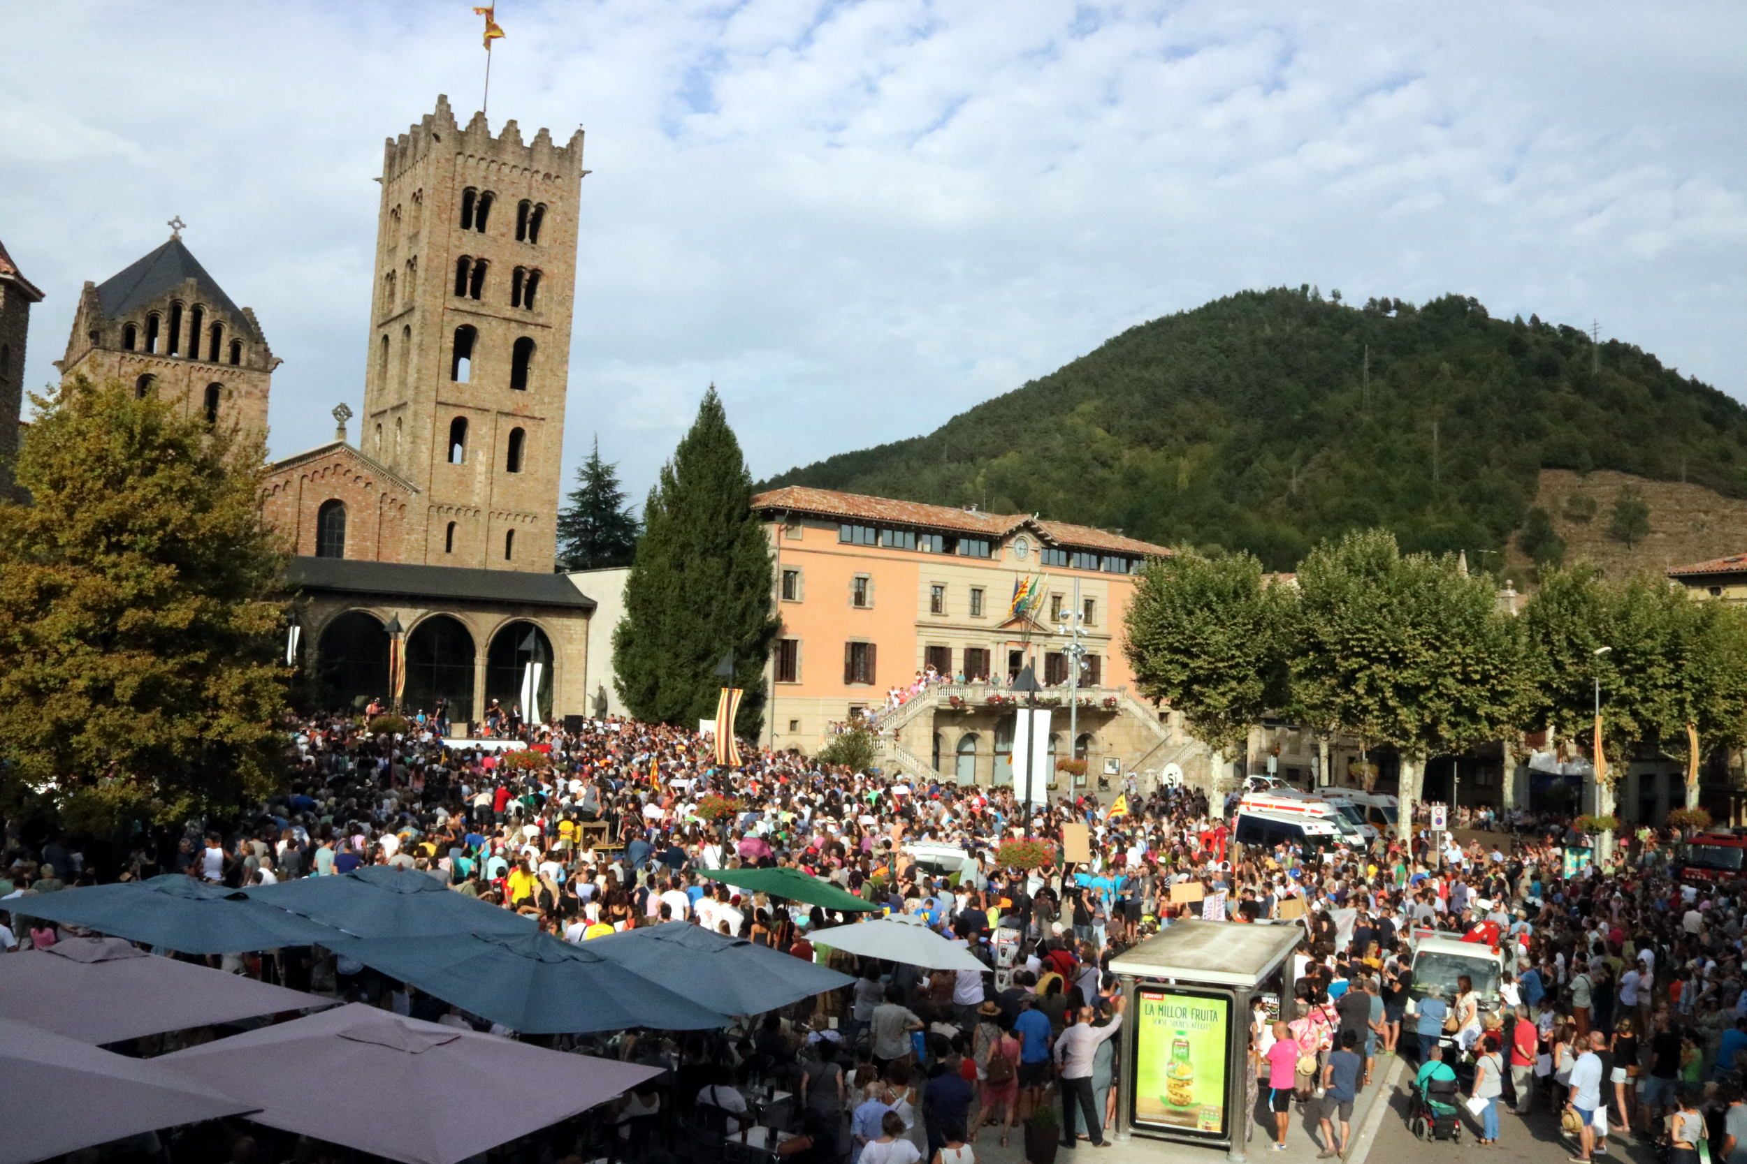
[[1597, 353], [1473, 298], [1281, 288], [1153, 319], [926, 436], [767, 485], [1036, 511], [1291, 569], [1359, 525], [1497, 550], [1543, 466], [1747, 496], [1747, 408], [1630, 344]]

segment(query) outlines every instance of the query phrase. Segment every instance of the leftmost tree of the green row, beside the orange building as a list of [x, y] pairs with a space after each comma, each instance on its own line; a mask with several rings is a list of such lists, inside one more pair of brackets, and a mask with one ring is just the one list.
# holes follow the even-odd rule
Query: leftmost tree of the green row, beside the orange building
[[1282, 698], [1281, 628], [1289, 599], [1247, 553], [1177, 550], [1141, 572], [1129, 606], [1127, 654], [1136, 686], [1183, 712], [1214, 754], [1214, 777]]

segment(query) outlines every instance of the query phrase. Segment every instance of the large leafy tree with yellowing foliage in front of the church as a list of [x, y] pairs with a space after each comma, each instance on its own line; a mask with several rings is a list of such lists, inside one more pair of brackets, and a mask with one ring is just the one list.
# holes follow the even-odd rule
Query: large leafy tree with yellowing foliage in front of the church
[[0, 805], [84, 834], [224, 811], [283, 763], [264, 448], [122, 384], [37, 398], [0, 504]]

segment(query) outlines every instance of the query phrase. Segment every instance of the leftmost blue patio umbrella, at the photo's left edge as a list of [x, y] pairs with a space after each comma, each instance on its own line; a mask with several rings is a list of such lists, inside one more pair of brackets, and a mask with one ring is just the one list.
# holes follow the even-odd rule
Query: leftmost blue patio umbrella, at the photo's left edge
[[334, 935], [325, 925], [250, 900], [241, 890], [180, 873], [19, 897], [12, 909], [185, 955], [313, 946]]

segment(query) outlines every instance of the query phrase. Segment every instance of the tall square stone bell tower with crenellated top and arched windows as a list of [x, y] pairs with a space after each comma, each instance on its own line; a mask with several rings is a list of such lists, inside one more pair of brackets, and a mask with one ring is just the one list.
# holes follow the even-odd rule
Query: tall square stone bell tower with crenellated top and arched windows
[[386, 143], [358, 447], [421, 492], [411, 562], [552, 571], [585, 173], [444, 96]]

